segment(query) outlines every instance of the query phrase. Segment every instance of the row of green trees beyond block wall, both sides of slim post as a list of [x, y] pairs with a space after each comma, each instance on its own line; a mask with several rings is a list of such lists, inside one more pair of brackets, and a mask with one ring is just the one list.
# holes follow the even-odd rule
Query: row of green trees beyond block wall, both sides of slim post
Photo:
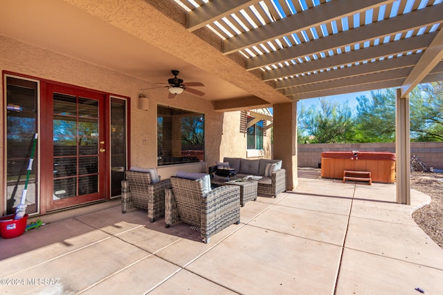
[[[419, 84], [409, 97], [410, 140], [443, 141], [443, 82]], [[356, 100], [356, 114], [350, 120], [347, 103], [320, 99], [320, 111], [301, 104], [298, 142], [395, 142], [396, 89], [371, 91], [370, 97]]]

